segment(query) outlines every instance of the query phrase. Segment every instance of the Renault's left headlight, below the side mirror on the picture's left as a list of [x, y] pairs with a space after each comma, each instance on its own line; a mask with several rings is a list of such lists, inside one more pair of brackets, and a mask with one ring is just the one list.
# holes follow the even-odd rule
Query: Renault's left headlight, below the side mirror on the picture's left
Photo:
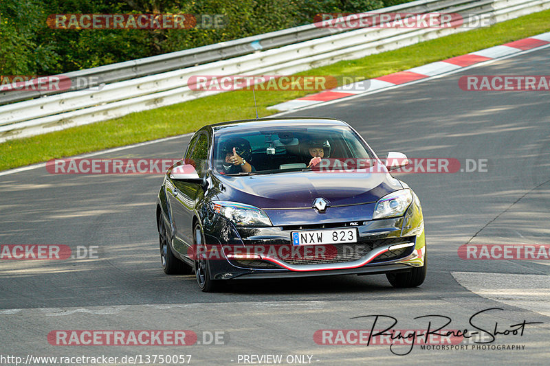
[[258, 207], [228, 201], [212, 201], [212, 211], [238, 226], [272, 226], [270, 218]]

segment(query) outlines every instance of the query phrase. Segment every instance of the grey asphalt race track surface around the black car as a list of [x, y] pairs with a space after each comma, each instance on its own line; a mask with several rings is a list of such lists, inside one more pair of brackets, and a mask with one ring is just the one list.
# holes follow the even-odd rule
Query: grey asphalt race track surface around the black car
[[[462, 91], [458, 80], [463, 75], [548, 75], [549, 59], [550, 48], [539, 49], [288, 114], [343, 119], [380, 157], [397, 150], [462, 163], [487, 159], [487, 172], [397, 176], [423, 206], [429, 270], [419, 288], [392, 288], [384, 275], [347, 275], [241, 280], [222, 293], [201, 293], [194, 276], [164, 275], [160, 267], [155, 196], [162, 174], [57, 175], [39, 168], [0, 176], [0, 244], [98, 247], [98, 258], [87, 260], [0, 261], [0, 354], [23, 359], [103, 354], [119, 360], [190, 354], [192, 365], [243, 365], [243, 355], [251, 354], [281, 354], [283, 361], [287, 355], [309, 355], [318, 365], [547, 364], [550, 313], [544, 306], [550, 290], [544, 286], [550, 262], [461, 260], [457, 250], [467, 242], [550, 243], [549, 94]], [[188, 139], [98, 157], [177, 158]], [[467, 288], [475, 292], [455, 277], [470, 281]], [[483, 291], [483, 297], [477, 294]], [[519, 298], [521, 306], [514, 303]], [[542, 323], [526, 325], [522, 336], [500, 334], [488, 344], [524, 345], [520, 350], [472, 349], [465, 342], [467, 350], [416, 345], [407, 356], [397, 356], [388, 345], [314, 342], [316, 330], [370, 329], [371, 318], [352, 319], [370, 314], [395, 317], [394, 328], [403, 330], [426, 328], [427, 319], [414, 317], [445, 315], [452, 319], [445, 329], [473, 331], [470, 317], [487, 308], [502, 310], [476, 317], [485, 330], [494, 330], [496, 323], [500, 331], [524, 320]], [[192, 330], [202, 343], [203, 332], [220, 331], [225, 344], [64, 347], [48, 343], [52, 330]], [[405, 347], [393, 351], [406, 353]]]

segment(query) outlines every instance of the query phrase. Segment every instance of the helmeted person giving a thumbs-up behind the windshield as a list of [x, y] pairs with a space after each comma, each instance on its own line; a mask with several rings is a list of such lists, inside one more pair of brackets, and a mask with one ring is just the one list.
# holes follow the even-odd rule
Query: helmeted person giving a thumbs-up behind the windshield
[[240, 172], [254, 172], [250, 164], [252, 148], [250, 143], [241, 137], [228, 139], [221, 145], [220, 157], [225, 159], [221, 163], [221, 174], [239, 174]]

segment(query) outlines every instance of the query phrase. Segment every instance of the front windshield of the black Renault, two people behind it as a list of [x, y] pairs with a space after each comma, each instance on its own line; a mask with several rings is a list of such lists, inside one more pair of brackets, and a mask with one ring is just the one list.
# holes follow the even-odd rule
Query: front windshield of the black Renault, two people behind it
[[[233, 155], [250, 163], [252, 171], [245, 172], [239, 163], [231, 163]], [[316, 162], [312, 162], [316, 157]], [[368, 168], [373, 164], [369, 148], [347, 126], [270, 126], [265, 130], [219, 131], [214, 136], [212, 159], [214, 171], [228, 175], [276, 174], [320, 168], [342, 170]]]

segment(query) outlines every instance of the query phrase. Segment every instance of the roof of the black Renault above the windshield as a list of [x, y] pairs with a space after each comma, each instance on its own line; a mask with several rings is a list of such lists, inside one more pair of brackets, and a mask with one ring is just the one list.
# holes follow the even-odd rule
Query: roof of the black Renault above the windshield
[[278, 127], [278, 126], [296, 126], [311, 125], [311, 126], [349, 126], [346, 122], [335, 118], [326, 117], [272, 117], [261, 119], [241, 119], [239, 121], [220, 122], [217, 124], [210, 124], [209, 126], [214, 131], [221, 130], [227, 127], [242, 127], [244, 128], [260, 128], [260, 127]]

